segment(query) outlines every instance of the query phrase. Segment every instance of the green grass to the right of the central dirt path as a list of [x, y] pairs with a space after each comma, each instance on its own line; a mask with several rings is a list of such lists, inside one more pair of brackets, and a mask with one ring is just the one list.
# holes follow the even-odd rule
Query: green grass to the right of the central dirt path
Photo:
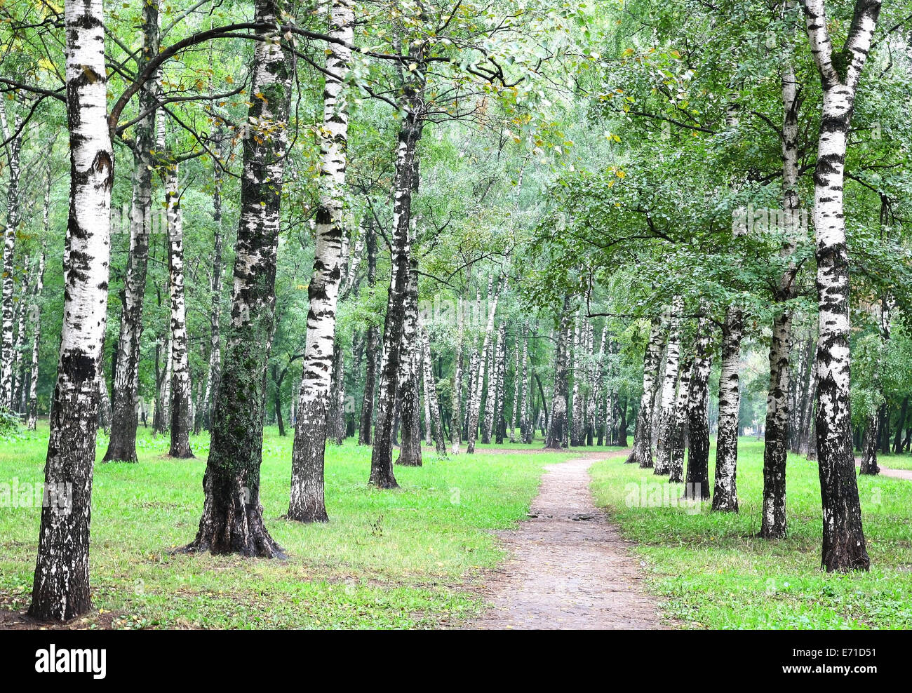
[[[700, 514], [682, 507], [628, 507], [634, 487], [627, 484], [638, 490], [641, 480], [659, 478], [619, 459], [594, 466], [597, 502], [637, 542], [648, 586], [664, 597], [668, 615], [689, 627], [912, 627], [912, 481], [859, 478], [871, 571], [826, 574], [820, 570], [814, 462], [789, 457], [788, 538], [754, 538], [760, 529], [762, 450], [762, 442], [741, 439], [738, 514], [710, 513], [709, 503]], [[710, 461], [714, 456], [712, 450]], [[713, 474], [710, 464], [710, 480]], [[659, 483], [668, 486], [667, 480]]]

